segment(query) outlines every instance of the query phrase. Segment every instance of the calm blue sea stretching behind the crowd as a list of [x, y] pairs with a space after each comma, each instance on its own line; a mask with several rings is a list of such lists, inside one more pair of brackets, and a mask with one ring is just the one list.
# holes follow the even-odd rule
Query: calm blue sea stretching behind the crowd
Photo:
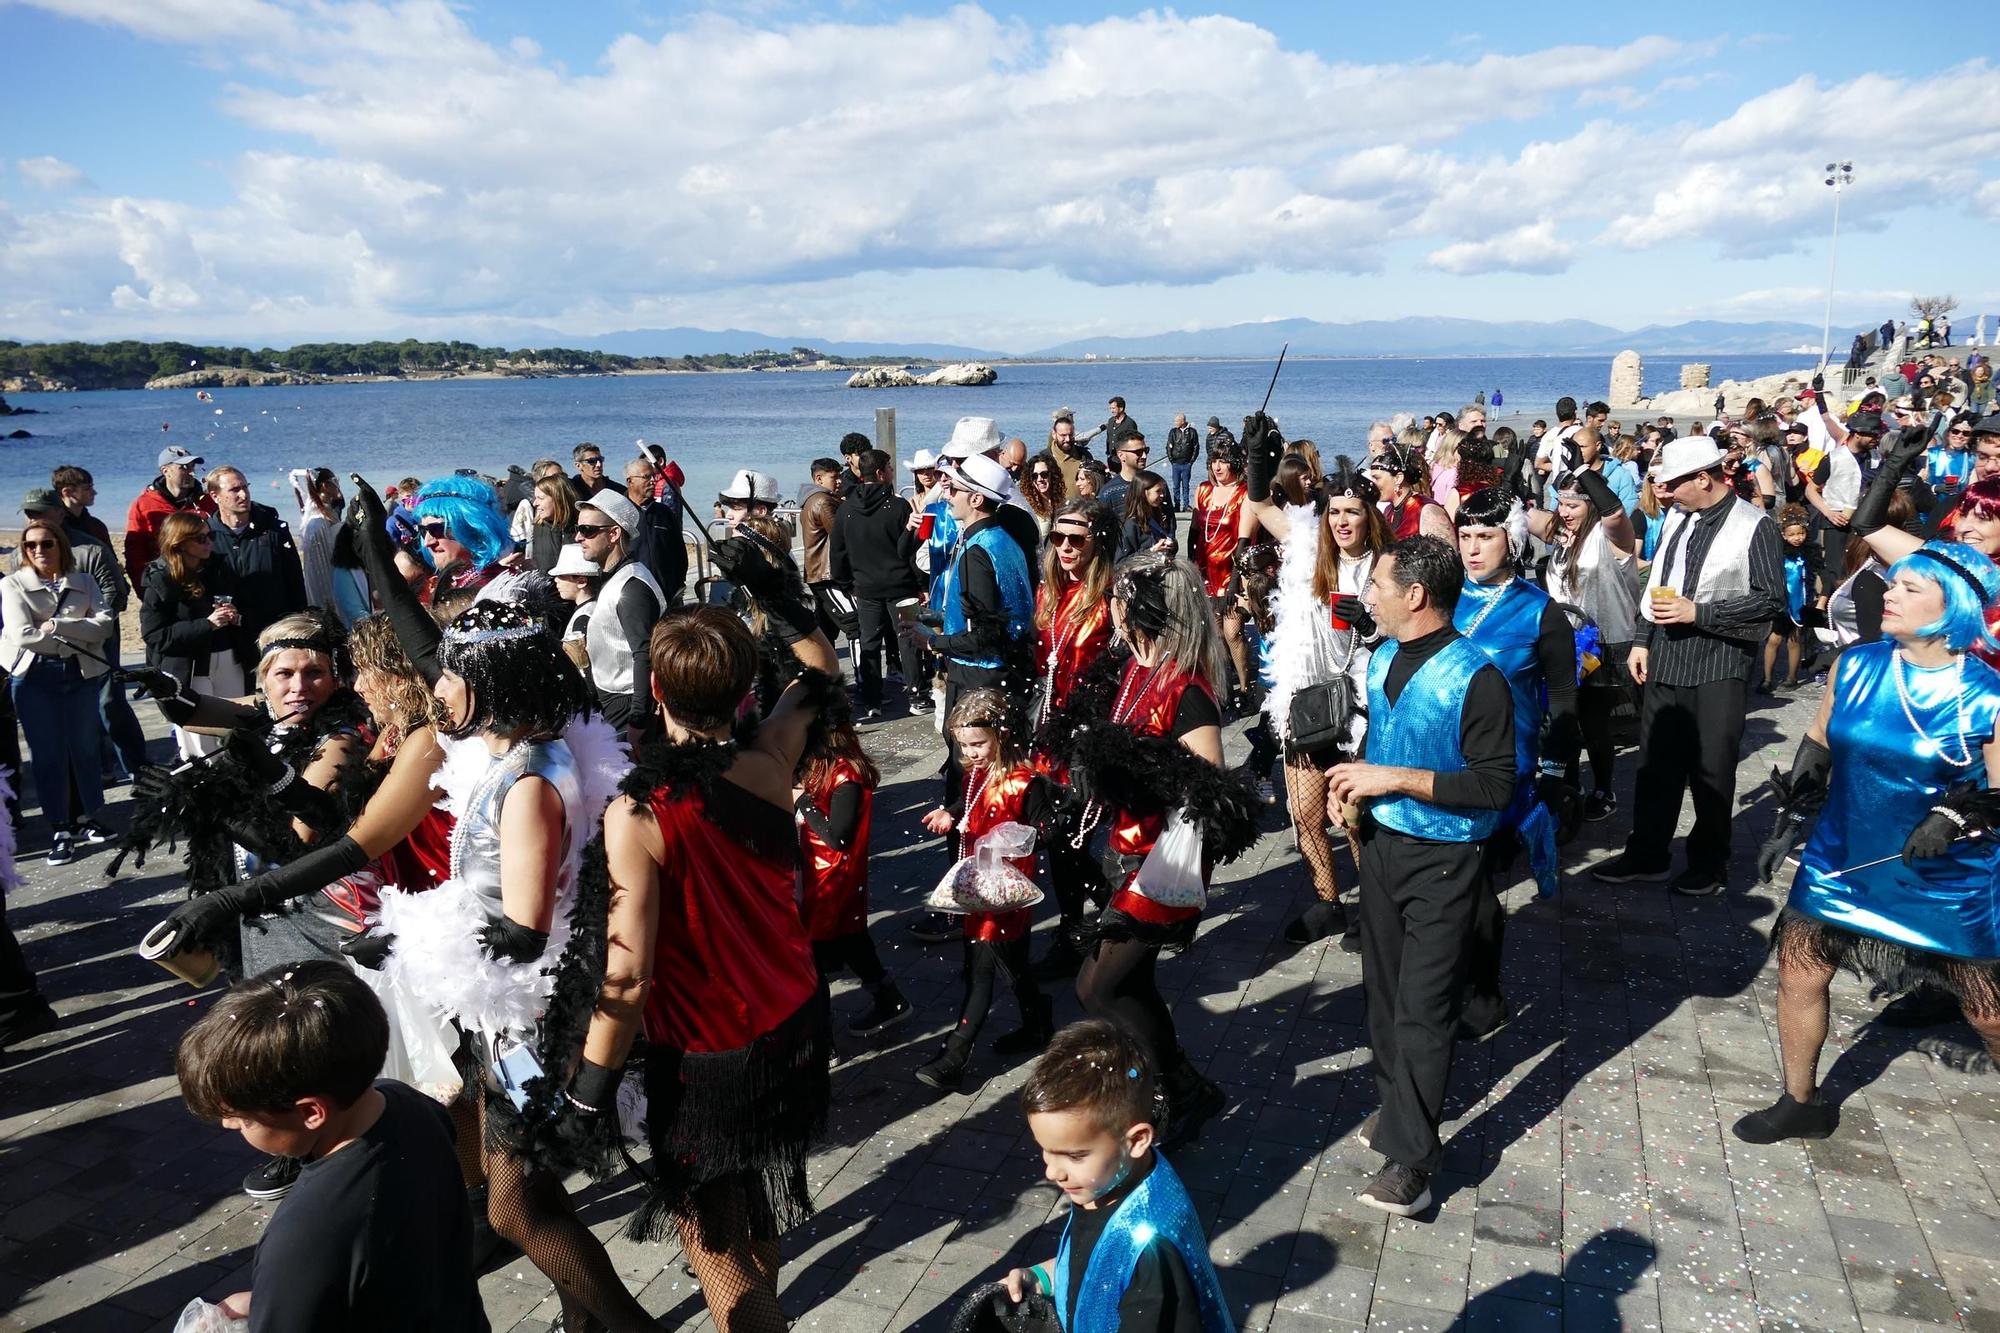
[[[1648, 388], [1674, 386], [1680, 360], [1652, 358]], [[1796, 368], [1804, 358], [1716, 356], [1710, 364], [1720, 382]], [[1556, 398], [1600, 398], [1608, 380], [1608, 356], [1292, 360], [1270, 412], [1286, 434], [1318, 440], [1332, 458], [1360, 452], [1368, 422], [1398, 410], [1458, 410], [1486, 390], [1504, 396], [1498, 414], [1552, 418]], [[216, 388], [214, 402], [194, 390], [16, 394], [14, 406], [40, 414], [0, 426], [0, 434], [34, 432], [0, 440], [0, 512], [16, 522], [20, 494], [46, 486], [52, 466], [76, 462], [96, 476], [96, 512], [118, 528], [166, 444], [198, 450], [210, 466], [240, 466], [252, 492], [280, 512], [290, 508], [284, 474], [294, 466], [360, 472], [382, 486], [462, 466], [500, 474], [508, 462], [568, 462], [580, 440], [598, 442], [614, 474], [636, 440], [664, 442], [696, 502], [740, 466], [776, 474], [792, 494], [808, 462], [836, 454], [842, 434], [874, 434], [876, 408], [896, 408], [898, 450], [908, 458], [938, 448], [960, 416], [994, 416], [1002, 432], [1040, 448], [1054, 408], [1076, 408], [1088, 430], [1104, 420], [1110, 394], [1124, 394], [1162, 458], [1174, 412], [1196, 426], [1220, 416], [1234, 430], [1268, 382], [1270, 362], [1144, 362], [1002, 366], [1000, 382], [984, 388], [860, 390], [846, 388], [842, 372], [766, 372]]]

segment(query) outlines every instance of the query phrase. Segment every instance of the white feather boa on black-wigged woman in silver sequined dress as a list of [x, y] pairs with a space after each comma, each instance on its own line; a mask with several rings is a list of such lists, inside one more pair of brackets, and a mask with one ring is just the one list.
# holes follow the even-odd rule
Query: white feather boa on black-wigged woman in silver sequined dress
[[[490, 1039], [528, 1039], [554, 987], [556, 963], [570, 943], [570, 905], [576, 899], [576, 869], [584, 845], [604, 823], [604, 809], [618, 795], [618, 783], [632, 769], [624, 739], [602, 719], [576, 717], [562, 741], [576, 761], [578, 801], [564, 811], [568, 845], [558, 871], [556, 913], [548, 949], [532, 963], [506, 963], [488, 955], [478, 931], [488, 925], [478, 897], [458, 879], [446, 879], [428, 893], [382, 891], [382, 929], [396, 937], [384, 971], [396, 985], [430, 1005], [462, 1029]], [[484, 741], [444, 739], [438, 787], [444, 809], [464, 817], [480, 779], [496, 759]], [[454, 833], [456, 839], [456, 833]]]

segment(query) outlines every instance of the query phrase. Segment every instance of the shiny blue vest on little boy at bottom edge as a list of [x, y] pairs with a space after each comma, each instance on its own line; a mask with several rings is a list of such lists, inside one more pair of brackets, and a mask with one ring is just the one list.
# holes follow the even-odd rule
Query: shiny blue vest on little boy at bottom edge
[[1158, 1149], [1152, 1155], [1152, 1171], [1104, 1223], [1104, 1235], [1098, 1237], [1090, 1251], [1090, 1263], [1084, 1267], [1084, 1285], [1076, 1293], [1074, 1317], [1068, 1309], [1070, 1225], [1062, 1225], [1062, 1245], [1056, 1247], [1056, 1271], [1052, 1273], [1056, 1319], [1062, 1323], [1062, 1333], [1116, 1333], [1118, 1301], [1132, 1285], [1132, 1269], [1138, 1267], [1140, 1253], [1156, 1239], [1172, 1245], [1188, 1267], [1194, 1295], [1202, 1307], [1202, 1333], [1236, 1333], [1216, 1265], [1208, 1261], [1208, 1235], [1202, 1231], [1202, 1219], [1194, 1213], [1188, 1189]]

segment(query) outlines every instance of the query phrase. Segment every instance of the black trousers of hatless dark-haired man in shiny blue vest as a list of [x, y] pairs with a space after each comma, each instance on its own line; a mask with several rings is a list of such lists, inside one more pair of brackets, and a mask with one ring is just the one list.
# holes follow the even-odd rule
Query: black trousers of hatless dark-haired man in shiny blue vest
[[1372, 1143], [1394, 1163], [1436, 1171], [1472, 921], [1486, 893], [1480, 845], [1388, 829], [1370, 829], [1360, 845], [1362, 991], [1382, 1099]]

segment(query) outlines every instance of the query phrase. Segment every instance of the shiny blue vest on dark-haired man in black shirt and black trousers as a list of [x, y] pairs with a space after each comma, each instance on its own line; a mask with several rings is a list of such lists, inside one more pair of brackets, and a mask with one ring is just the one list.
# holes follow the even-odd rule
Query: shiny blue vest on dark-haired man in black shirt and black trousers
[[[1394, 705], [1382, 683], [1400, 644], [1386, 642], [1368, 662], [1368, 763], [1398, 769], [1460, 773], [1460, 709], [1472, 675], [1492, 658], [1470, 638], [1454, 638], [1416, 669]], [[1368, 807], [1376, 823], [1432, 843], [1480, 843], [1500, 827], [1500, 811], [1460, 811], [1416, 797], [1376, 797]]]

